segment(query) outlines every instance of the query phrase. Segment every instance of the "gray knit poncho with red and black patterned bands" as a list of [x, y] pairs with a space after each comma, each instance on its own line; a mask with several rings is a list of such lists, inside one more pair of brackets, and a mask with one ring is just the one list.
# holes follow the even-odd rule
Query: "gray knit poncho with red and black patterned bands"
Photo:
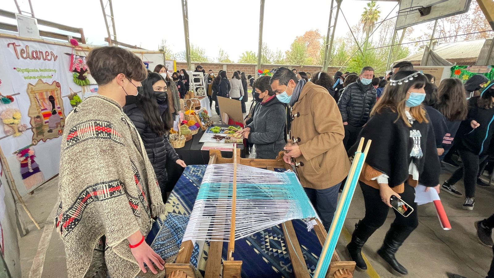
[[139, 134], [113, 99], [90, 96], [67, 116], [57, 203], [69, 278], [164, 277], [140, 272], [128, 247], [165, 205]]

